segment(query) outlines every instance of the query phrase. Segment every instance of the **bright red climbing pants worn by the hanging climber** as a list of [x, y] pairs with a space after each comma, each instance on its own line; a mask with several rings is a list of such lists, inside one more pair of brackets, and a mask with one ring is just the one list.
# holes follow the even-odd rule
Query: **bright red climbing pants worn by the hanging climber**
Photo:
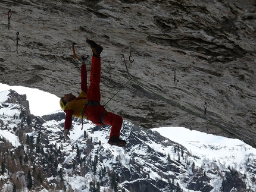
[[[86, 100], [89, 102], [99, 103], [101, 101], [101, 92], [99, 83], [101, 82], [101, 58], [92, 56], [92, 65], [90, 68], [90, 86], [86, 93]], [[110, 138], [112, 136], [120, 136], [123, 118], [120, 115], [115, 115], [107, 112], [102, 105], [88, 105], [85, 108], [86, 117], [96, 125], [111, 125]]]

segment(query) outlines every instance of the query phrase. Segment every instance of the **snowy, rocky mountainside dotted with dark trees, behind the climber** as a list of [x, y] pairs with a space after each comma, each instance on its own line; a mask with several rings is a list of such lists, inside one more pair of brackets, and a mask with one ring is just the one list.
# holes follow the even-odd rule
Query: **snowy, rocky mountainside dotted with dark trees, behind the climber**
[[[1, 144], [7, 147], [5, 140], [15, 143], [9, 150], [13, 159], [17, 156], [17, 169], [8, 166], [11, 159], [0, 159], [8, 170], [0, 175], [5, 181], [2, 190], [15, 185], [26, 191], [30, 170], [32, 191], [256, 191], [256, 152], [246, 144], [188, 141], [181, 128], [184, 136], [176, 138], [181, 145], [167, 139], [175, 131], [163, 128], [161, 135], [124, 121], [121, 137], [127, 140], [127, 147], [123, 149], [107, 144], [110, 127], [88, 122], [81, 130], [77, 118], [73, 119], [71, 140], [64, 141], [63, 112], [35, 117], [31, 123], [27, 117], [11, 121], [17, 111], [10, 104], [1, 102], [8, 114], [1, 114], [1, 133], [5, 133]], [[25, 110], [21, 107], [20, 113], [21, 109]], [[4, 154], [6, 150], [1, 150], [0, 157]], [[10, 180], [14, 175], [21, 179]]]

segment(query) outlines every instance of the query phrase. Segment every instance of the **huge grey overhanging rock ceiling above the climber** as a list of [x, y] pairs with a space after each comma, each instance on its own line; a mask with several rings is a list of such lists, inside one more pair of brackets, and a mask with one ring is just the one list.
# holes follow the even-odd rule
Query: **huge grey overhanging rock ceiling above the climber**
[[233, 0], [1, 1], [1, 83], [60, 97], [79, 93], [71, 45], [77, 43], [77, 55], [90, 55], [88, 37], [104, 47], [102, 105], [114, 96], [108, 111], [145, 128], [179, 125], [256, 147], [255, 6]]

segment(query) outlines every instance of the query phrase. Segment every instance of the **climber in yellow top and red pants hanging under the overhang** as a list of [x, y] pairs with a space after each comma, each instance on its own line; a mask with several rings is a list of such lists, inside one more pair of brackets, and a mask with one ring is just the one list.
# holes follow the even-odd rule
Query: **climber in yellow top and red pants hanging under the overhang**
[[95, 125], [111, 125], [110, 139], [108, 143], [118, 147], [125, 147], [126, 141], [121, 140], [120, 130], [123, 124], [123, 118], [119, 115], [107, 112], [99, 102], [101, 93], [99, 83], [101, 81], [101, 57], [103, 50], [101, 45], [86, 38], [86, 43], [92, 49], [92, 65], [90, 69], [90, 86], [87, 86], [87, 71], [85, 60], [82, 58], [81, 65], [81, 93], [74, 96], [72, 93], [64, 95], [60, 99], [61, 109], [65, 112], [64, 138], [69, 140], [72, 116], [79, 118], [88, 118]]

